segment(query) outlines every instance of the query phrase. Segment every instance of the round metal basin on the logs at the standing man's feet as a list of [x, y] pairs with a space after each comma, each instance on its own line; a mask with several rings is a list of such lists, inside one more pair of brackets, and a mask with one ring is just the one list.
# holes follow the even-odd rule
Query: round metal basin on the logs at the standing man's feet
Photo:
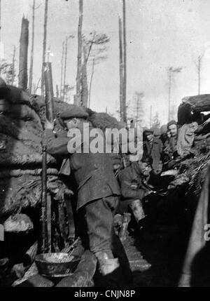
[[47, 277], [69, 276], [76, 269], [80, 257], [68, 253], [46, 253], [36, 255], [38, 273]]

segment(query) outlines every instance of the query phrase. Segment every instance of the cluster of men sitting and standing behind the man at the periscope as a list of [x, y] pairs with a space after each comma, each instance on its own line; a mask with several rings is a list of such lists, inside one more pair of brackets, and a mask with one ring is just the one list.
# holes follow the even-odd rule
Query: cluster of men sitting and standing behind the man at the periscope
[[[136, 228], [146, 241], [153, 241], [153, 228], [157, 219], [157, 203], [167, 182], [161, 177], [162, 170], [167, 169], [167, 163], [176, 158], [178, 128], [176, 121], [167, 124], [167, 131], [160, 133], [154, 128], [144, 129], [143, 156], [139, 161], [128, 161], [127, 167], [118, 173], [121, 201], [118, 214], [125, 211], [132, 213]], [[115, 218], [119, 228], [122, 219]]]

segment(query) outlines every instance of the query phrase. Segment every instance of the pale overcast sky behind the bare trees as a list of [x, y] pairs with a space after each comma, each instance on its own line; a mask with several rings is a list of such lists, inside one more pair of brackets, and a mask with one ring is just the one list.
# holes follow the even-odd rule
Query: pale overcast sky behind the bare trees
[[[34, 82], [41, 76], [44, 2], [36, 0]], [[92, 86], [91, 107], [116, 111], [119, 99], [118, 15], [120, 0], [84, 0], [83, 33], [93, 30], [110, 37], [108, 59], [97, 65]], [[144, 92], [145, 120], [150, 106], [162, 124], [168, 112], [168, 67], [183, 67], [174, 74], [172, 103], [197, 94], [195, 60], [202, 60], [201, 93], [210, 93], [210, 1], [209, 0], [127, 0], [127, 101], [135, 91]], [[19, 46], [22, 15], [31, 21], [32, 0], [1, 0], [1, 39], [5, 58], [12, 60], [13, 45]], [[62, 41], [78, 28], [78, 0], [50, 0], [48, 41], [53, 53], [54, 88], [60, 83]], [[31, 34], [31, 22], [30, 22]], [[29, 44], [29, 51], [31, 45]], [[18, 67], [17, 53], [17, 67]], [[76, 85], [77, 39], [69, 40], [67, 83]], [[90, 79], [90, 74], [89, 74]], [[71, 93], [73, 102], [73, 92]]]

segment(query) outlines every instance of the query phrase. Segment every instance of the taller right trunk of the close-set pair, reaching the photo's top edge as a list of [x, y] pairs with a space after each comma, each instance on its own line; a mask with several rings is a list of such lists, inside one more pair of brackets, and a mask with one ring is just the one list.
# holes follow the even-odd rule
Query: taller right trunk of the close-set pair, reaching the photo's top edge
[[124, 81], [123, 81], [123, 121], [127, 124], [127, 107], [126, 107], [126, 97], [127, 97], [127, 41], [126, 41], [126, 8], [125, 0], [123, 0], [123, 48], [124, 48]]

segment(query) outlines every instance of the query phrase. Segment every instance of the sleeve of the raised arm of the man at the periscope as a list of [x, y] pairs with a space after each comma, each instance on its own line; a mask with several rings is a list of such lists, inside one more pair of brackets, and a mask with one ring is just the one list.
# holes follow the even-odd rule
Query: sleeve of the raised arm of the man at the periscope
[[47, 152], [52, 155], [64, 155], [69, 154], [67, 145], [69, 138], [67, 137], [55, 137], [55, 134], [51, 130], [45, 130], [43, 134], [43, 143], [47, 147]]

